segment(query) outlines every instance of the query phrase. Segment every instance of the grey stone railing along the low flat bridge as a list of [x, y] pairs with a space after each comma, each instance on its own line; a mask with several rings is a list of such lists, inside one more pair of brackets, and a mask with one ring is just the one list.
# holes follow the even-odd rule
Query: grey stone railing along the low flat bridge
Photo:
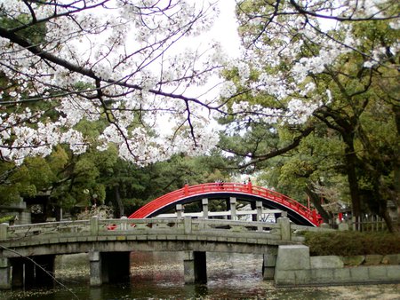
[[[320, 230], [316, 227], [292, 224], [287, 217], [281, 217], [277, 223], [236, 221], [223, 219], [175, 218], [175, 219], [100, 219], [62, 221], [28, 225], [0, 225], [0, 241], [7, 244], [29, 241], [29, 245], [54, 239], [65, 242], [72, 237], [91, 241], [110, 236], [155, 236], [155, 235], [195, 235], [213, 237], [236, 237], [245, 239], [263, 239], [271, 244], [278, 241], [301, 241], [295, 232]], [[92, 240], [92, 241], [95, 241]], [[69, 240], [71, 241], [71, 240]], [[275, 242], [274, 242], [275, 241]]]

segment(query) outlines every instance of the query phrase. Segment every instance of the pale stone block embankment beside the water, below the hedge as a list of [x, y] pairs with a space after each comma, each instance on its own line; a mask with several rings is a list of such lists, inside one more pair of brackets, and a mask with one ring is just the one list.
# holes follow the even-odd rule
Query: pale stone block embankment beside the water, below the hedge
[[307, 246], [279, 246], [274, 280], [276, 286], [400, 282], [400, 254], [310, 257]]

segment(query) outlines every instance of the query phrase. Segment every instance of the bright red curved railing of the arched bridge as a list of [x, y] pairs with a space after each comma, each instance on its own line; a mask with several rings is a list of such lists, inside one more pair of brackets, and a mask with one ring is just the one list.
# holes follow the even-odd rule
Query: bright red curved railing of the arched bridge
[[282, 204], [288, 209], [292, 209], [300, 216], [307, 218], [316, 226], [322, 223], [322, 219], [320, 215], [317, 214], [316, 209], [308, 209], [298, 201], [295, 201], [282, 193], [277, 193], [261, 186], [252, 186], [252, 183], [208, 183], [196, 186], [186, 185], [179, 190], [166, 193], [163, 196], [158, 197], [156, 200], [148, 202], [146, 205], [132, 213], [129, 218], [148, 217], [156, 210], [162, 209], [173, 202], [179, 201], [180, 199], [206, 193], [245, 193], [260, 196], [261, 198]]

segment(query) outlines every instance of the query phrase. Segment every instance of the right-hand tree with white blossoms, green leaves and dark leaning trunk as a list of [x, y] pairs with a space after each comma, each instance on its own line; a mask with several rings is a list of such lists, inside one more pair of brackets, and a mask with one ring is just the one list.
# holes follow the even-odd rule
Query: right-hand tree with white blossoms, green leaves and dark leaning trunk
[[[374, 198], [375, 212], [390, 228], [386, 201], [400, 202], [379, 190], [385, 172], [398, 170], [398, 144], [392, 136], [380, 140], [394, 150], [385, 152], [390, 154], [383, 162], [377, 155], [382, 154], [380, 146], [370, 143], [376, 138], [366, 138], [364, 130], [371, 129], [365, 115], [381, 107], [388, 114], [385, 127], [399, 136], [393, 126], [399, 107], [399, 4], [246, 0], [238, 2], [237, 14], [246, 51], [226, 72], [231, 91], [227, 106], [233, 115], [227, 119], [227, 134], [251, 143], [242, 148], [226, 144], [225, 150], [244, 157], [240, 168], [260, 167], [276, 155], [291, 154], [317, 127], [326, 126], [344, 143], [354, 215], [368, 202], [362, 200], [366, 177], [360, 173], [374, 170], [374, 178], [368, 179], [374, 195], [368, 197]], [[260, 125], [268, 130], [265, 136], [272, 136], [268, 147], [257, 139]], [[393, 191], [397, 185], [395, 180], [386, 186]]]

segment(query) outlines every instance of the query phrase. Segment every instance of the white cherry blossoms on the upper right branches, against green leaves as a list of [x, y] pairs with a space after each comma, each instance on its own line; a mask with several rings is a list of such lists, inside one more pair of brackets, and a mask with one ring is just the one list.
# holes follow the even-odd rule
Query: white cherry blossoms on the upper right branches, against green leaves
[[[398, 9], [392, 0], [239, 1], [245, 51], [230, 67], [236, 80], [226, 83], [227, 96], [238, 99], [230, 105], [233, 113], [242, 120], [252, 116], [269, 123], [304, 123], [318, 107], [332, 102], [329, 89], [320, 97], [308, 97], [316, 91], [312, 75], [337, 65], [346, 53], [363, 56], [364, 67], [396, 68], [392, 61], [398, 52]], [[385, 21], [390, 42], [365, 47], [369, 36], [354, 27], [368, 28], [377, 21]], [[262, 96], [264, 104], [245, 101], [241, 96], [246, 92]]]

